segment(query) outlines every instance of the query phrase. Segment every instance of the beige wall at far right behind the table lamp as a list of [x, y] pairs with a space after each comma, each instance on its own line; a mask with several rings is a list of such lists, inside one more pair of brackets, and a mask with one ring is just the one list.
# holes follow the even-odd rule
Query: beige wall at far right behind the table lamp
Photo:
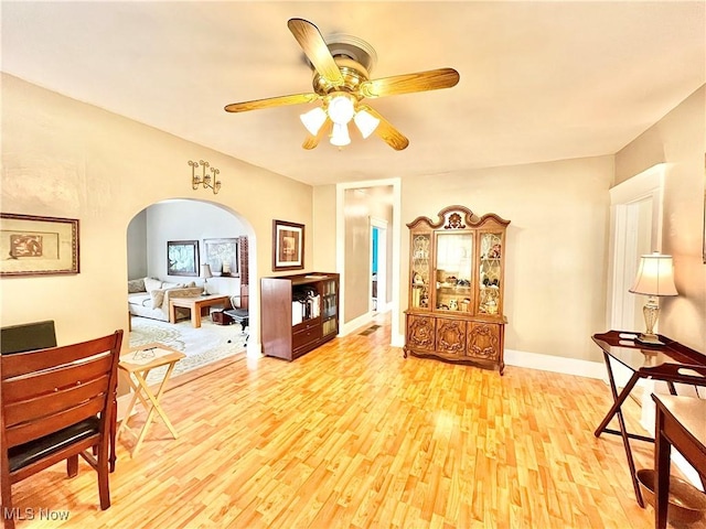
[[[674, 256], [677, 298], [661, 302], [660, 333], [706, 353], [703, 262], [706, 87], [702, 86], [616, 155], [617, 182], [666, 162], [662, 251]], [[618, 172], [620, 168], [620, 172]]]

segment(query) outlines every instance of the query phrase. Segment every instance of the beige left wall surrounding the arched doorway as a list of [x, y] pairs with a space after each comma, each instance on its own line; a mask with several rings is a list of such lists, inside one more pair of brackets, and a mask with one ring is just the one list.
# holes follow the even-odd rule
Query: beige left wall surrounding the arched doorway
[[[189, 160], [221, 170], [222, 191], [191, 188]], [[167, 198], [237, 213], [257, 268], [271, 272], [272, 218], [312, 225], [312, 188], [151, 127], [2, 75], [2, 210], [81, 220], [81, 273], [3, 278], [2, 325], [56, 321], [60, 343], [127, 328], [129, 222]], [[313, 262], [306, 237], [306, 264]], [[252, 307], [257, 313], [258, 300]], [[259, 335], [253, 319], [252, 334]]]

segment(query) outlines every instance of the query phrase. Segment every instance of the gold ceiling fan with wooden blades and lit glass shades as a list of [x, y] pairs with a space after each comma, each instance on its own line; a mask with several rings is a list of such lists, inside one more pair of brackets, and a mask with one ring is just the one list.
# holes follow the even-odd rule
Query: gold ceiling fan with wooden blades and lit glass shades
[[303, 19], [290, 19], [287, 25], [314, 71], [313, 91], [233, 102], [226, 105], [225, 110], [245, 112], [321, 101], [321, 106], [301, 115], [310, 132], [302, 144], [304, 149], [315, 148], [324, 136], [336, 147], [347, 145], [351, 142], [347, 126], [352, 120], [363, 138], [375, 132], [389, 147], [402, 151], [409, 140], [363, 100], [450, 88], [459, 82], [459, 73], [453, 68], [371, 79], [370, 69], [376, 54], [366, 42], [350, 35], [334, 35], [327, 43], [319, 29]]

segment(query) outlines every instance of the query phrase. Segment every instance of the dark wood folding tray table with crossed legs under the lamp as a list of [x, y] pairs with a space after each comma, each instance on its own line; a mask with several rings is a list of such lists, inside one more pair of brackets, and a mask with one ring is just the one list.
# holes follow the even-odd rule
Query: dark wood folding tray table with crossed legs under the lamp
[[[601, 433], [606, 432], [622, 438], [635, 498], [640, 507], [644, 507], [644, 500], [640, 492], [640, 486], [638, 485], [632, 450], [630, 449], [630, 439], [653, 443], [654, 438], [629, 433], [625, 429], [625, 421], [620, 407], [641, 378], [665, 381], [672, 395], [676, 395], [675, 382], [706, 386], [706, 355], [691, 349], [666, 336], [659, 335], [660, 341], [664, 343], [664, 345], [657, 347], [637, 343], [634, 341], [637, 336], [635, 333], [625, 331], [609, 331], [592, 336], [593, 342], [603, 352], [603, 360], [608, 369], [608, 381], [610, 382], [610, 390], [613, 396], [613, 406], [608, 410], [608, 413], [593, 434], [598, 438]], [[620, 393], [618, 392], [613, 371], [610, 366], [611, 358], [632, 370], [630, 380]], [[618, 415], [619, 430], [607, 428], [614, 415]]]

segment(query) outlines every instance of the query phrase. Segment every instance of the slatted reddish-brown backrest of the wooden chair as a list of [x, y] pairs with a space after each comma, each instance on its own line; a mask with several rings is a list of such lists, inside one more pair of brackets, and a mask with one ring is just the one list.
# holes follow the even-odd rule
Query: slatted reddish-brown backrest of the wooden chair
[[49, 349], [0, 355], [0, 407], [6, 450], [100, 415], [114, 421], [122, 331]]

